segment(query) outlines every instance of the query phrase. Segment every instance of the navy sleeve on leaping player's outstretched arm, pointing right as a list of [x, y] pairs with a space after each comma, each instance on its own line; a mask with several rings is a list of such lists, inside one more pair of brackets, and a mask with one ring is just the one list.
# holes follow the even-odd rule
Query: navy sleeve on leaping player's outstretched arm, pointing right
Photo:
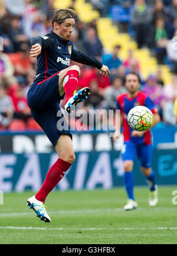
[[95, 66], [98, 69], [101, 69], [103, 66], [103, 64], [99, 62], [99, 60], [95, 59], [94, 57], [89, 57], [85, 53], [79, 52], [76, 49], [72, 50], [71, 60], [82, 63], [84, 65]]

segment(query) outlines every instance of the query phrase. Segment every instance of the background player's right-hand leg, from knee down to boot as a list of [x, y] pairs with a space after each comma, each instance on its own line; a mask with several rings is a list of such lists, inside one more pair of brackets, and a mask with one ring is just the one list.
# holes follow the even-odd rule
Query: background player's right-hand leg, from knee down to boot
[[152, 168], [141, 167], [142, 173], [149, 184], [149, 206], [156, 206], [158, 203], [158, 185], [155, 183], [155, 172]]

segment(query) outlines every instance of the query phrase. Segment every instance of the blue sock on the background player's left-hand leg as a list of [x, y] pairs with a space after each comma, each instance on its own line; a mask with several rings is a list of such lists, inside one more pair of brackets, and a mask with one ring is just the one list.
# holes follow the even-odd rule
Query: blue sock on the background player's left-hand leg
[[133, 172], [124, 172], [123, 175], [124, 185], [127, 191], [127, 196], [129, 199], [135, 200], [133, 194], [133, 187], [134, 187], [134, 179], [133, 179]]

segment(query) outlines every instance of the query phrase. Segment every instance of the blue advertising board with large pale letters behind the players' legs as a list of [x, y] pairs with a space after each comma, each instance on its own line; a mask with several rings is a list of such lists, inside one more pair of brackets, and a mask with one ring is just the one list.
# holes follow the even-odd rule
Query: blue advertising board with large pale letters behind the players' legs
[[[57, 153], [5, 153], [0, 156], [0, 190], [4, 192], [37, 191], [48, 169], [57, 160]], [[153, 149], [153, 169], [157, 184], [177, 183], [176, 149]], [[146, 185], [139, 161], [133, 169], [135, 185]], [[123, 164], [120, 151], [77, 152], [76, 161], [57, 184], [60, 190], [109, 189], [123, 185]]]

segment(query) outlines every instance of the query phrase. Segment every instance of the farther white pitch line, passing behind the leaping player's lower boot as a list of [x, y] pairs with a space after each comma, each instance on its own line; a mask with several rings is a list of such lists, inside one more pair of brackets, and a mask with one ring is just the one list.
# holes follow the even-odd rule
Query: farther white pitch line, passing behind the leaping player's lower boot
[[[176, 210], [175, 207], [143, 207], [138, 208], [136, 211], [142, 210], [153, 210], [153, 211], [162, 211], [162, 210]], [[113, 209], [80, 209], [80, 210], [58, 210], [58, 211], [48, 211], [49, 214], [57, 215], [66, 215], [66, 214], [81, 214], [81, 213], [110, 213], [110, 212], [124, 212], [122, 208], [113, 208]], [[18, 216], [27, 216], [31, 212], [14, 212], [14, 213], [0, 213], [0, 217], [18, 217]]]

